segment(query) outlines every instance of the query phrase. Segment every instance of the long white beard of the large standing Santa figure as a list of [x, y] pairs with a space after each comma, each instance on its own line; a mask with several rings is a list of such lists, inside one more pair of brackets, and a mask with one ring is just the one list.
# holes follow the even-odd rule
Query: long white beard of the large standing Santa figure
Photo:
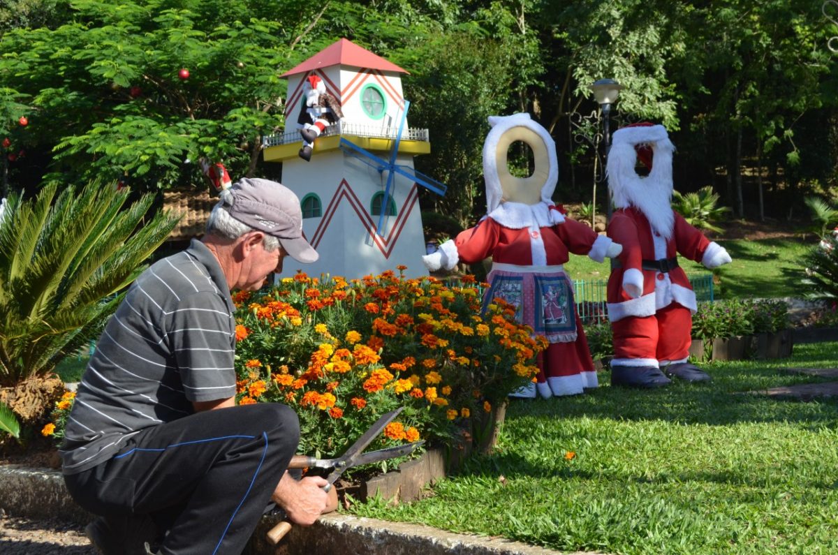
[[637, 153], [632, 142], [616, 142], [608, 153], [608, 190], [617, 208], [634, 206], [649, 220], [652, 231], [669, 240], [675, 225], [672, 210], [672, 151], [668, 137], [648, 143], [652, 170], [646, 177], [634, 171]]

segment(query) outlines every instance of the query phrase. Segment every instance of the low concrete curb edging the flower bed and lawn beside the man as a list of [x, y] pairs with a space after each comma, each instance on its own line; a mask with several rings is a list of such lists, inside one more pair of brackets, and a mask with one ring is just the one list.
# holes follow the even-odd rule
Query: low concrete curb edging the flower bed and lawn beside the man
[[[59, 471], [15, 464], [0, 466], [0, 509], [13, 516], [55, 518], [81, 525], [93, 518], [70, 498]], [[430, 526], [340, 513], [324, 515], [314, 526], [294, 526], [274, 547], [267, 542], [266, 533], [276, 523], [277, 517], [262, 519], [245, 551], [247, 555], [562, 555], [503, 538], [454, 534]], [[582, 555], [582, 552], [575, 553]], [[597, 554], [584, 552], [584, 555]]]

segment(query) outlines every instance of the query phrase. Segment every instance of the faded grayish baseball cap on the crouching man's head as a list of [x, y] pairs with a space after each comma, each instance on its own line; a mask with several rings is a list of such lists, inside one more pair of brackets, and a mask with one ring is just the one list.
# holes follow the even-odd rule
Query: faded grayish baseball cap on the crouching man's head
[[276, 181], [242, 178], [231, 187], [233, 204], [222, 207], [236, 220], [279, 239], [297, 262], [315, 262], [320, 257], [303, 238], [303, 210], [291, 189]]

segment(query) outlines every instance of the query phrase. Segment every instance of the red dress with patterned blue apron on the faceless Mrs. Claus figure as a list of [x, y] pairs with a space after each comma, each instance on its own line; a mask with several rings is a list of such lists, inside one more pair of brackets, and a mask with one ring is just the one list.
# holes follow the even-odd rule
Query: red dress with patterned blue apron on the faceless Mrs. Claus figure
[[[521, 206], [525, 205], [518, 208]], [[576, 312], [572, 282], [562, 265], [570, 252], [602, 262], [611, 241], [575, 220], [540, 226], [537, 222], [549, 220], [528, 221], [521, 216], [526, 210], [516, 211], [515, 225], [524, 226], [504, 226], [493, 218], [493, 212], [460, 233], [454, 241], [458, 257], [468, 263], [492, 257], [484, 305], [493, 298], [504, 298], [518, 307], [520, 322], [550, 341], [539, 355], [535, 388], [515, 395], [535, 397], [536, 390], [542, 397], [582, 393], [586, 387], [597, 386], [597, 373]]]

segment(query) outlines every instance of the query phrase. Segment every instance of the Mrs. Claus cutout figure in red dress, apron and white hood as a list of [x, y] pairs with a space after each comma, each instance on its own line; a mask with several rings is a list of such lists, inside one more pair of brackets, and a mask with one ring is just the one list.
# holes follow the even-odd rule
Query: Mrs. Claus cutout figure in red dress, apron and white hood
[[[483, 148], [488, 215], [423, 260], [433, 271], [492, 257], [484, 307], [494, 298], [504, 299], [515, 305], [520, 322], [549, 341], [539, 355], [536, 382], [514, 397], [582, 393], [597, 386], [597, 373], [563, 264], [571, 252], [602, 262], [616, 256], [620, 246], [553, 205], [556, 144], [544, 127], [525, 113], [490, 117], [489, 125]], [[516, 178], [507, 167], [507, 152], [516, 141], [532, 150], [535, 172], [530, 177]]]

